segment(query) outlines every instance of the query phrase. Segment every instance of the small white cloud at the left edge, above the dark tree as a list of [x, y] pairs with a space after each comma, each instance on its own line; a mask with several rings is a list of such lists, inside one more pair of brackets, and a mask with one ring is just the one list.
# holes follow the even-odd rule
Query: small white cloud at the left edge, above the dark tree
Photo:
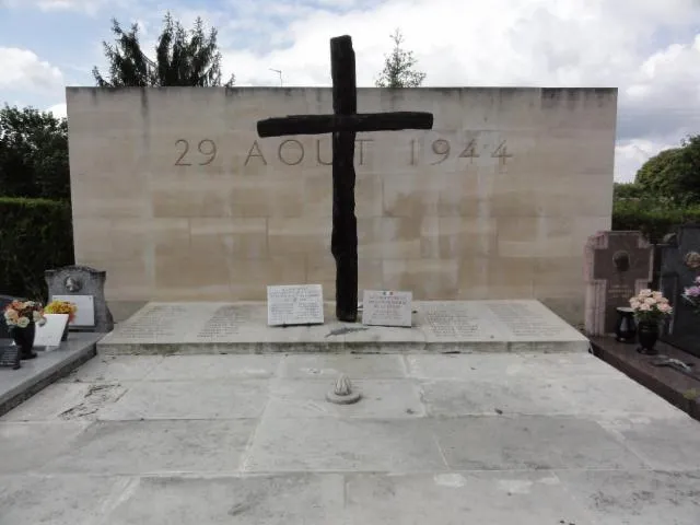
[[61, 71], [28, 49], [0, 47], [0, 89], [47, 92], [63, 84]]

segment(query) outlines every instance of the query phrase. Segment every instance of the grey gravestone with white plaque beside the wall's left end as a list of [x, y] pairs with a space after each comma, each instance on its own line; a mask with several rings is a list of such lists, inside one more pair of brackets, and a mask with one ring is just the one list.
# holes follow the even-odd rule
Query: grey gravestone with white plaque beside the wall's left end
[[107, 272], [88, 266], [65, 266], [45, 271], [48, 300], [75, 303], [78, 312], [70, 328], [106, 334], [114, 329], [112, 312], [105, 299]]

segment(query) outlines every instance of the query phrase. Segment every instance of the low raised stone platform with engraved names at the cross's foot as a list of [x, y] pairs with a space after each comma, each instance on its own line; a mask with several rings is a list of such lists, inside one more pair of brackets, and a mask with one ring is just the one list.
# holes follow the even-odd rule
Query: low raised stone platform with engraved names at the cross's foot
[[267, 305], [149, 303], [97, 345], [103, 354], [268, 352], [586, 352], [588, 339], [538, 301], [415, 302], [410, 328], [267, 326]]

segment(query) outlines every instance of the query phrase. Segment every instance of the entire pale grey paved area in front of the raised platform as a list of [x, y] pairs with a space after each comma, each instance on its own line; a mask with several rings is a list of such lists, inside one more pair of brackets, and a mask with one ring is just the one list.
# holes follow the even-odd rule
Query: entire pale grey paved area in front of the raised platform
[[0, 418], [0, 523], [697, 525], [698, 430], [585, 351], [98, 353]]

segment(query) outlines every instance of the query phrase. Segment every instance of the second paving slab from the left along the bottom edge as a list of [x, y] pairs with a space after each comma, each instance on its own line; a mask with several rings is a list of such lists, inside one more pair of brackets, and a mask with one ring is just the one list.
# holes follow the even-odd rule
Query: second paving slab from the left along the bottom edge
[[332, 474], [147, 477], [110, 513], [109, 525], [346, 525], [343, 499], [343, 477]]

